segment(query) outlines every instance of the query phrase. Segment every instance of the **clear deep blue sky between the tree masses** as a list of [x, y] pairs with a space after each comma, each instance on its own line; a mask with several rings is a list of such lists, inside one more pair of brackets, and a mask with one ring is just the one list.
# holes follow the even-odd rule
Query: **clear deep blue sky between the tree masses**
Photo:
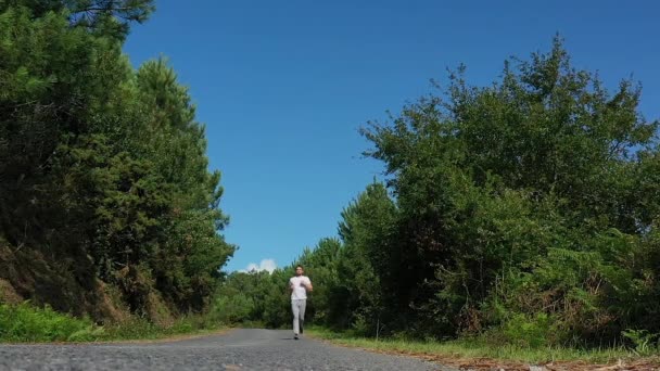
[[[556, 33], [573, 63], [607, 86], [633, 76], [642, 112], [660, 117], [657, 1], [156, 1], [125, 46], [134, 65], [165, 55], [206, 125], [223, 172], [226, 270], [283, 266], [337, 234], [340, 213], [381, 164], [357, 132], [468, 66], [497, 78], [510, 55]], [[262, 260], [269, 259], [274, 261]], [[254, 266], [252, 266], [254, 267]]]

